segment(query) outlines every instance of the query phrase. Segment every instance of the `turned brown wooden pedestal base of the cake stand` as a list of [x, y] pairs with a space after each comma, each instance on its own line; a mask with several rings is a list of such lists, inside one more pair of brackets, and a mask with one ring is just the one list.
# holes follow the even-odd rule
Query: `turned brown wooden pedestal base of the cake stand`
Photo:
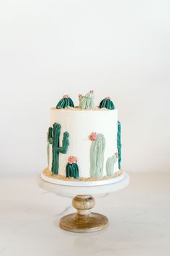
[[95, 200], [91, 195], [76, 195], [72, 205], [77, 213], [63, 216], [60, 220], [61, 229], [71, 232], [93, 232], [104, 229], [108, 226], [108, 218], [99, 213], [91, 213]]

